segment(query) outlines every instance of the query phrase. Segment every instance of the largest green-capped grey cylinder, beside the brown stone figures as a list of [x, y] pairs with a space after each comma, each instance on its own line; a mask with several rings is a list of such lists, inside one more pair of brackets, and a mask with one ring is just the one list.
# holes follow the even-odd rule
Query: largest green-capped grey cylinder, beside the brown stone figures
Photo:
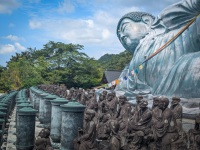
[[78, 128], [83, 128], [85, 106], [78, 102], [61, 105], [61, 147], [60, 150], [74, 149], [73, 140], [78, 136]]

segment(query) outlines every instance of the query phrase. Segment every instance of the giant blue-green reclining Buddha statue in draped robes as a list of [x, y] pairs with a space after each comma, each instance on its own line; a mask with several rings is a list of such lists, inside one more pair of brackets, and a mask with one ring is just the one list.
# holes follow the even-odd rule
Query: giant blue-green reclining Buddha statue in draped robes
[[[154, 17], [131, 12], [118, 22], [117, 36], [125, 49], [133, 53], [126, 74], [138, 69], [116, 87], [126, 95], [136, 93], [200, 97], [200, 0], [182, 0]], [[198, 16], [198, 17], [197, 17]], [[139, 65], [171, 40], [195, 17], [187, 30], [168, 44], [163, 51]], [[127, 87], [127, 88], [126, 88]]]

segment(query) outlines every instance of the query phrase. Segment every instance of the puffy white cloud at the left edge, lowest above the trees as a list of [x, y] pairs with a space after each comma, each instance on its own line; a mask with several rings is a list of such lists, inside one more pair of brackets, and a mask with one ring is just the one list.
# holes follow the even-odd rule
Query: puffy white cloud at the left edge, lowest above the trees
[[8, 54], [25, 50], [26, 48], [18, 42], [14, 43], [14, 45], [13, 44], [0, 45], [0, 54]]

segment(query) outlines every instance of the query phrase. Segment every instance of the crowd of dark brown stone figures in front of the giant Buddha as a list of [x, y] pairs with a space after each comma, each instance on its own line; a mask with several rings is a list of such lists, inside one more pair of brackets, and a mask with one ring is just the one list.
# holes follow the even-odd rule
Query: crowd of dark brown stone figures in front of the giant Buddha
[[[93, 93], [93, 94], [92, 94]], [[180, 98], [173, 97], [169, 107], [167, 97], [154, 97], [152, 108], [143, 96], [136, 105], [125, 96], [103, 91], [96, 100], [93, 90], [88, 93], [84, 128], [78, 130], [75, 150], [184, 150], [200, 148], [199, 120], [186, 133], [182, 128]], [[189, 135], [189, 136], [187, 136]], [[189, 145], [188, 145], [189, 144]]]

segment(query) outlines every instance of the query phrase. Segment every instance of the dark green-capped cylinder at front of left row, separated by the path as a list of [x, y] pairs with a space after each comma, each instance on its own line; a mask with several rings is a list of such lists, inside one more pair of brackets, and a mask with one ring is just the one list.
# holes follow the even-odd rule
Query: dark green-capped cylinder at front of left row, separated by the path
[[18, 110], [17, 150], [32, 150], [35, 139], [35, 116], [37, 110], [24, 107]]

